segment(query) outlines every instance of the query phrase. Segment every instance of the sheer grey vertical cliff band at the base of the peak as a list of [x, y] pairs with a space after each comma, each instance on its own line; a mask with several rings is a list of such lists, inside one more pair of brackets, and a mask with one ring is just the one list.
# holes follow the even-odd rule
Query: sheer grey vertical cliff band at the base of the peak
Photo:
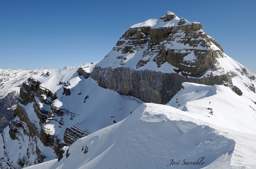
[[231, 76], [207, 76], [192, 79], [177, 73], [162, 73], [151, 70], [129, 70], [128, 68], [93, 69], [91, 76], [102, 87], [116, 90], [120, 94], [130, 95], [145, 102], [166, 104], [182, 88], [183, 82], [204, 85], [221, 85], [224, 81], [232, 83]]

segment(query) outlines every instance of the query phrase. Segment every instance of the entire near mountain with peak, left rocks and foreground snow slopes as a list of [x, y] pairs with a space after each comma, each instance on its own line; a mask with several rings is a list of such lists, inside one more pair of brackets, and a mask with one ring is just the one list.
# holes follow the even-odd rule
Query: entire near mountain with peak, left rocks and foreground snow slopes
[[29, 77], [0, 167], [253, 169], [255, 85], [201, 23], [168, 11], [100, 62]]

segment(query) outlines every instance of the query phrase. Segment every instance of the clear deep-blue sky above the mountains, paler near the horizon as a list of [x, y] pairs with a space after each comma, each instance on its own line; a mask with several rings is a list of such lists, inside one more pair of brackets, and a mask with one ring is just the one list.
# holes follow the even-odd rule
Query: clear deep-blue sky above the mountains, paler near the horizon
[[256, 73], [255, 0], [0, 0], [0, 68], [96, 62], [136, 23], [174, 12], [200, 22], [224, 52]]

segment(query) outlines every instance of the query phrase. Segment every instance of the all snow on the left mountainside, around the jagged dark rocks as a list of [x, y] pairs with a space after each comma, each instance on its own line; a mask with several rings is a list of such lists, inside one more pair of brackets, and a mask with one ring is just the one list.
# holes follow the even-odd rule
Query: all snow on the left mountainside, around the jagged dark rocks
[[[86, 64], [81, 68], [90, 73], [95, 65], [96, 63]], [[18, 103], [25, 110], [25, 116], [29, 118], [39, 134], [44, 131], [50, 135], [49, 138], [56, 138], [63, 144], [65, 143], [63, 141], [64, 132], [67, 128], [75, 127], [90, 134], [122, 121], [142, 104], [139, 99], [122, 96], [113, 90], [100, 87], [94, 80], [79, 76], [77, 70], [78, 68], [61, 71], [48, 70], [46, 74], [32, 76], [41, 83], [42, 89], [47, 88], [55, 93], [57, 99], [51, 102], [51, 99], [45, 94], [35, 96], [36, 102]], [[26, 81], [26, 83], [30, 82]], [[70, 88], [70, 96], [63, 95], [64, 86]], [[32, 94], [32, 96], [34, 95]], [[48, 100], [51, 104], [45, 104], [40, 98]], [[41, 122], [36, 112], [37, 105], [41, 110], [51, 112], [45, 123]], [[64, 113], [61, 115], [53, 113], [53, 107]], [[29, 134], [28, 122], [25, 123], [21, 118], [23, 117], [16, 115], [12, 121], [12, 124], [18, 126], [14, 130], [17, 133], [14, 136], [15, 140], [9, 135], [9, 127], [3, 130], [0, 147], [4, 148], [0, 152], [0, 166], [3, 168], [8, 165], [12, 168], [30, 166], [40, 161], [38, 152], [44, 156], [44, 161], [57, 158], [54, 149], [51, 146], [46, 146], [41, 140], [43, 136]], [[17, 147], [19, 148], [17, 149]]]

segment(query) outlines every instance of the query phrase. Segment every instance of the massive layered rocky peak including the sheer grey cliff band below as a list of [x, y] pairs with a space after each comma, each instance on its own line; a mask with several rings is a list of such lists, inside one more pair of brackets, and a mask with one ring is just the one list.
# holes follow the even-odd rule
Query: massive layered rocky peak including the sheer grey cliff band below
[[232, 85], [233, 74], [218, 62], [227, 56], [201, 28], [172, 12], [133, 25], [90, 76], [102, 87], [159, 104], [183, 82]]

